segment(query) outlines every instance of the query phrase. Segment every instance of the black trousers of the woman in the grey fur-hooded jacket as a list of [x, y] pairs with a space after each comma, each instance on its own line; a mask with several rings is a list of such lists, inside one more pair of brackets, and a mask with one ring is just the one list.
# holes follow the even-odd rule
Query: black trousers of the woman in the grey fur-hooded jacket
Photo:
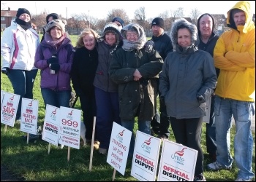
[[170, 124], [176, 143], [181, 143], [184, 146], [198, 151], [195, 175], [203, 173], [203, 151], [200, 144], [202, 123], [203, 117], [191, 119], [176, 119], [170, 117]]

